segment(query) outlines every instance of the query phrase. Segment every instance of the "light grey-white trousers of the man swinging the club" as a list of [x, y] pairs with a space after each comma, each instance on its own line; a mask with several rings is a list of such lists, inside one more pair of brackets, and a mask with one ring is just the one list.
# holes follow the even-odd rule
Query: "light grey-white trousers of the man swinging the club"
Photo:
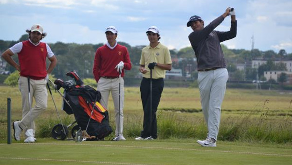
[[228, 71], [219, 68], [210, 71], [199, 71], [198, 84], [201, 96], [201, 106], [207, 123], [207, 138], [217, 140], [221, 117], [221, 104], [224, 99]]

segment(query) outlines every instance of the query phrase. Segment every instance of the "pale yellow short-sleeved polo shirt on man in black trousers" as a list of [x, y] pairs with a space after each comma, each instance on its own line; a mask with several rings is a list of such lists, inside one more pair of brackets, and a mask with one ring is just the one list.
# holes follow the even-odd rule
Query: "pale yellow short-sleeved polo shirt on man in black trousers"
[[[142, 49], [140, 65], [145, 65], [147, 70], [147, 73], [143, 74], [143, 77], [150, 78], [150, 69], [148, 68], [148, 64], [153, 62], [160, 64], [172, 64], [169, 49], [161, 43], [159, 43], [155, 48], [151, 48], [150, 45], [148, 45]], [[166, 70], [155, 66], [152, 70], [152, 78], [165, 78], [165, 72]]]

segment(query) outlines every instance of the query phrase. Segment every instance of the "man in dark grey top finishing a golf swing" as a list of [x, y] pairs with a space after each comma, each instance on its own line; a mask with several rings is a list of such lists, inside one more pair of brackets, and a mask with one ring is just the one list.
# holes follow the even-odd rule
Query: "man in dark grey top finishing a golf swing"
[[[228, 32], [214, 31], [226, 16], [231, 16], [231, 28]], [[205, 140], [197, 142], [203, 147], [216, 147], [219, 132], [221, 104], [224, 98], [228, 71], [220, 42], [236, 37], [237, 20], [233, 8], [225, 12], [204, 27], [200, 16], [191, 16], [187, 22], [194, 32], [188, 36], [195, 51], [198, 65], [198, 84], [201, 106], [207, 123], [208, 134]]]

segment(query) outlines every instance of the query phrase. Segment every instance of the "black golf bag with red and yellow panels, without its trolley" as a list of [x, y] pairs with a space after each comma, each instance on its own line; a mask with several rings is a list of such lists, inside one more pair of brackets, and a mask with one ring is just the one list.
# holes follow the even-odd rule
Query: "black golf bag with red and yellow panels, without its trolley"
[[[58, 79], [56, 81], [61, 80]], [[78, 81], [81, 81], [79, 77]], [[86, 130], [90, 136], [95, 136], [95, 140], [101, 140], [112, 132], [109, 123], [109, 113], [99, 103], [102, 97], [99, 91], [96, 91], [89, 85], [83, 85], [83, 83], [82, 85], [74, 84], [73, 81], [65, 82], [61, 86], [64, 87], [64, 97], [70, 104], [69, 106], [63, 101], [63, 110], [68, 115], [74, 114], [75, 120], [81, 130]], [[91, 120], [89, 120], [90, 117]]]

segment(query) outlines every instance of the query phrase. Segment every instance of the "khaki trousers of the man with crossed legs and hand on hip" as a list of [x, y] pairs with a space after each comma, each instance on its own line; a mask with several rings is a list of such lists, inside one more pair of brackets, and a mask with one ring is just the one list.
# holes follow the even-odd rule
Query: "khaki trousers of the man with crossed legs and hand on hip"
[[[35, 119], [42, 114], [47, 108], [48, 92], [46, 87], [47, 81], [30, 79], [30, 96], [28, 96], [28, 81], [26, 77], [19, 77], [18, 85], [22, 98], [22, 119], [19, 123], [19, 127], [26, 132], [27, 129], [32, 128], [36, 131]], [[31, 100], [31, 106], [33, 104], [33, 98], [35, 98], [35, 106], [31, 109], [29, 107], [29, 99]], [[31, 117], [31, 119], [30, 119]], [[32, 123], [30, 123], [32, 120]]]

